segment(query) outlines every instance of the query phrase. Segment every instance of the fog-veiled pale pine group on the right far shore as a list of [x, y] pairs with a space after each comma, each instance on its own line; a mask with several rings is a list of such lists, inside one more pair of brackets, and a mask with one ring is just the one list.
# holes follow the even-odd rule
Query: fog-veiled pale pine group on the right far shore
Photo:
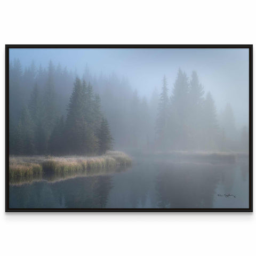
[[[156, 146], [161, 150], [246, 150], [249, 135], [243, 127], [241, 140], [231, 106], [221, 113], [220, 121], [210, 92], [204, 92], [198, 75], [191, 78], [178, 70], [169, 97], [166, 77], [158, 103], [156, 119]], [[247, 139], [246, 139], [247, 138]]]

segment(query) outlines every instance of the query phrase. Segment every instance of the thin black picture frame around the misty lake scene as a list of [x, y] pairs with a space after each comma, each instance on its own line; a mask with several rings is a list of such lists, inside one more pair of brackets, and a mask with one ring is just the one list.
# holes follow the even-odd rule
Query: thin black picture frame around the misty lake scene
[[[13, 48], [180, 48], [249, 49], [249, 208], [246, 209], [10, 209], [9, 207], [9, 50]], [[253, 212], [253, 45], [5, 45], [5, 212]]]

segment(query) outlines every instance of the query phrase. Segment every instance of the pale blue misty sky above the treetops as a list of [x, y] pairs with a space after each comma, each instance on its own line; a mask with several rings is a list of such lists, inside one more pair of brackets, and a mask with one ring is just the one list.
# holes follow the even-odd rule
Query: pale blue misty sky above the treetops
[[82, 75], [87, 65], [92, 74], [113, 71], [129, 79], [141, 96], [161, 88], [166, 75], [172, 91], [179, 68], [190, 76], [197, 71], [205, 92], [211, 91], [218, 110], [229, 102], [238, 125], [249, 123], [249, 49], [10, 49], [10, 60], [22, 66], [47, 67], [51, 59]]

